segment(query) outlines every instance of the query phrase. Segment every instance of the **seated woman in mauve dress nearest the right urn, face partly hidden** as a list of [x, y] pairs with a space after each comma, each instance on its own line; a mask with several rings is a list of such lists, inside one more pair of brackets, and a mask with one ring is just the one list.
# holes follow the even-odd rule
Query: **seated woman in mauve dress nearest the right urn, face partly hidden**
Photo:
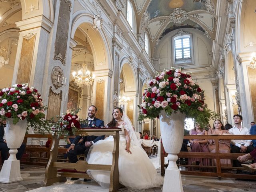
[[[203, 130], [198, 123], [194, 124], [194, 129], [189, 131], [190, 135], [207, 135], [207, 132]], [[208, 140], [205, 139], [190, 139], [191, 152], [209, 152], [207, 143]], [[202, 158], [188, 158], [189, 165], [211, 165], [210, 159], [202, 159]], [[193, 170], [192, 168], [188, 168], [188, 170]]]

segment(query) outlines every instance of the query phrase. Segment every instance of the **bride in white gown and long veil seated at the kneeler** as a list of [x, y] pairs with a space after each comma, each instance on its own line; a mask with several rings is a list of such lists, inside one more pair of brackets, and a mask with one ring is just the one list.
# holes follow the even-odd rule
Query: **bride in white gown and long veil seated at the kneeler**
[[[122, 128], [119, 145], [119, 182], [130, 189], [159, 187], [164, 178], [159, 176], [146, 152], [136, 138], [132, 123], [119, 107], [114, 108], [108, 127]], [[112, 164], [113, 137], [96, 142], [86, 161], [90, 164]], [[88, 170], [87, 173], [103, 187], [109, 187], [110, 171]]]

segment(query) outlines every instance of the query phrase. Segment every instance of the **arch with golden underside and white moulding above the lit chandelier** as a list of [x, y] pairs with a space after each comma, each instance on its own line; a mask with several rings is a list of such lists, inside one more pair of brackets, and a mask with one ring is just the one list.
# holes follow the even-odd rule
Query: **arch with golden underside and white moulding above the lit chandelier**
[[78, 11], [73, 14], [71, 38], [78, 27], [90, 28], [88, 30], [88, 42], [92, 47], [92, 55], [94, 57], [94, 70], [112, 69], [111, 49], [107, 41], [107, 36], [103, 30], [96, 31], [93, 26], [94, 16], [85, 11]]

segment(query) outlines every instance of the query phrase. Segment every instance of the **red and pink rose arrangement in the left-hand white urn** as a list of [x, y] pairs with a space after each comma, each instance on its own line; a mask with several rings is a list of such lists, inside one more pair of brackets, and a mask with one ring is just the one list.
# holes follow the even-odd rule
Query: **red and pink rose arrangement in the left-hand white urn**
[[0, 91], [0, 120], [13, 118], [13, 124], [20, 120], [27, 120], [28, 127], [34, 131], [49, 131], [50, 122], [44, 120], [44, 106], [41, 95], [34, 87], [27, 83], [15, 84]]

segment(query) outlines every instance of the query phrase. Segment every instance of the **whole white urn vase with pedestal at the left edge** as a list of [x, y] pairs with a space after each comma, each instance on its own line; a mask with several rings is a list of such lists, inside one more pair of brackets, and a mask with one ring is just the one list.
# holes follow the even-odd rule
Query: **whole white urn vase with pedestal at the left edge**
[[23, 180], [20, 175], [20, 160], [17, 160], [16, 153], [20, 148], [26, 134], [27, 120], [20, 120], [13, 124], [13, 119], [8, 118], [6, 122], [6, 142], [10, 149], [8, 160], [4, 161], [0, 172], [1, 183], [12, 183]]

